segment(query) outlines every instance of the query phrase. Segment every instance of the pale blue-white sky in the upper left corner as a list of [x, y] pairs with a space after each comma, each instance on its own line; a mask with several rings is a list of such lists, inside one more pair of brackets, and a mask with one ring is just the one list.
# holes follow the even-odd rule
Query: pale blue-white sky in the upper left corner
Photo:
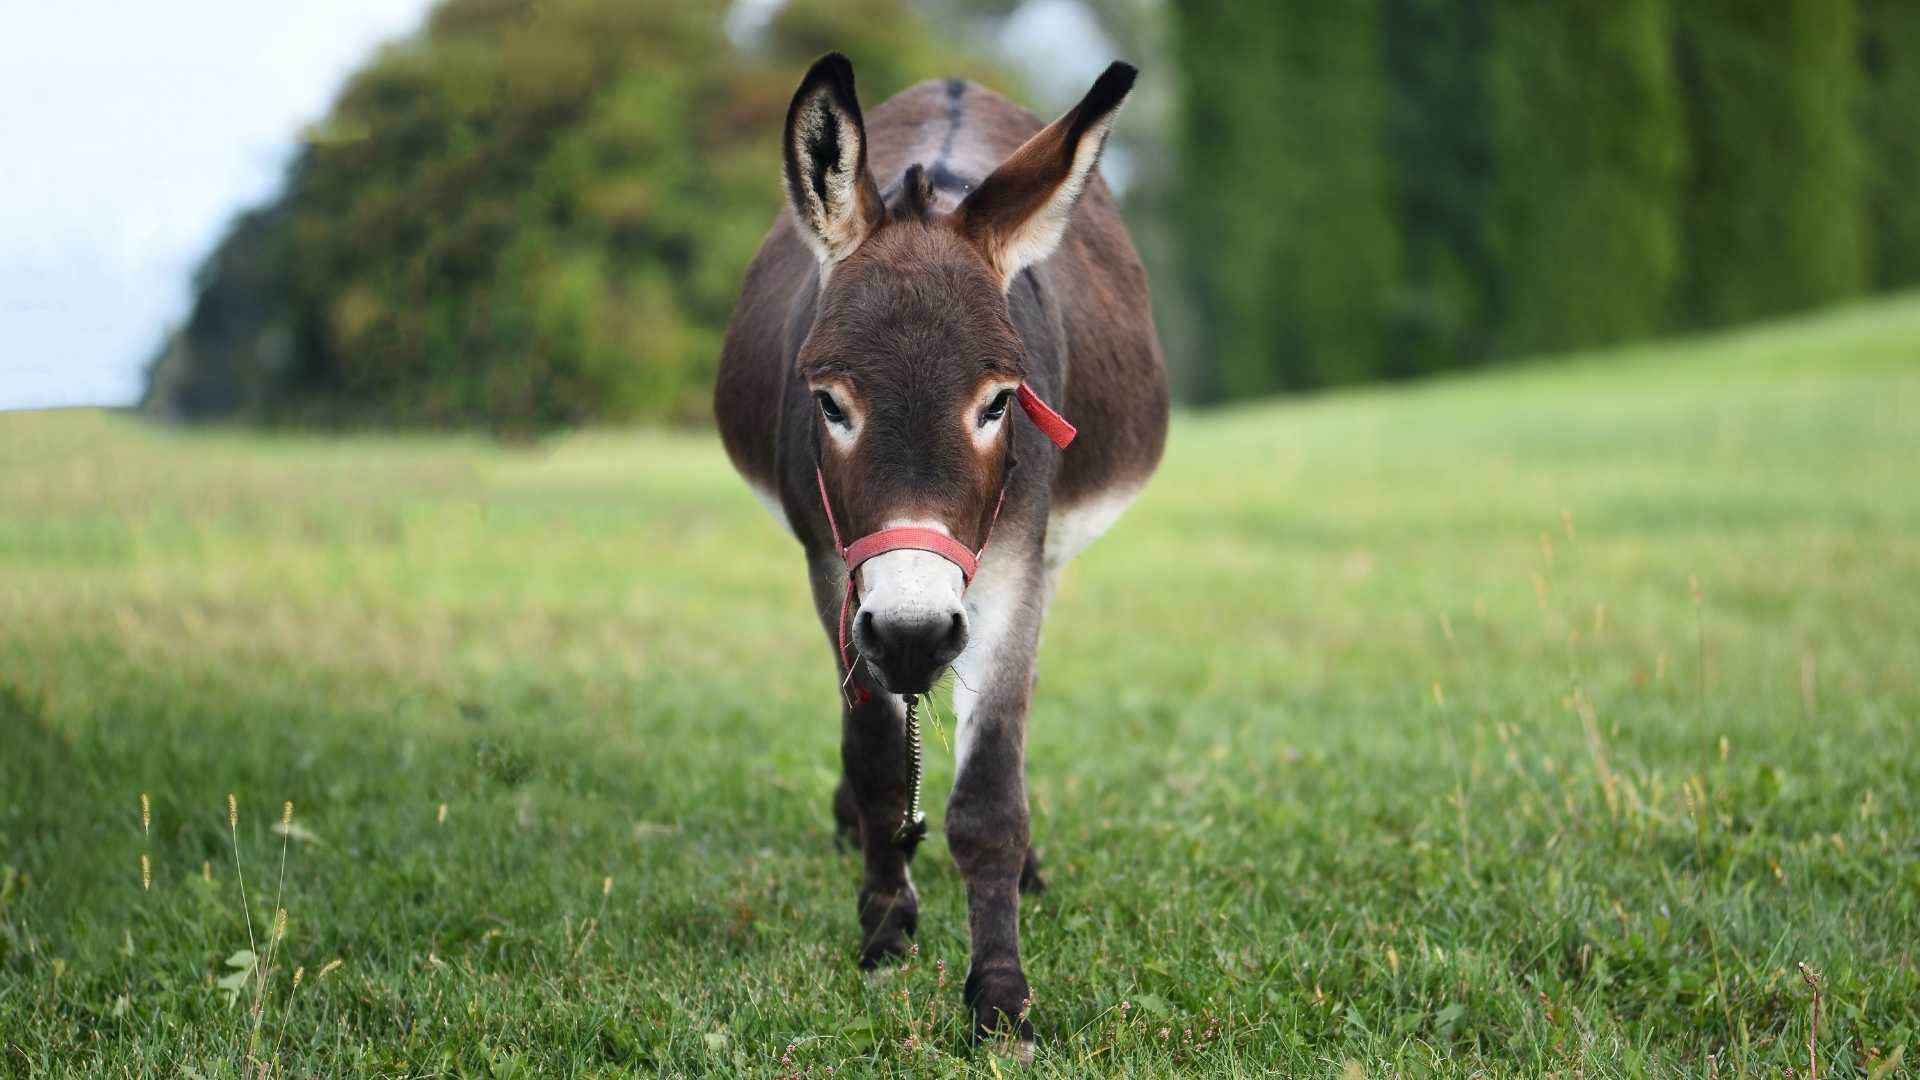
[[0, 409], [25, 409], [138, 400], [227, 221], [428, 0], [0, 8]]

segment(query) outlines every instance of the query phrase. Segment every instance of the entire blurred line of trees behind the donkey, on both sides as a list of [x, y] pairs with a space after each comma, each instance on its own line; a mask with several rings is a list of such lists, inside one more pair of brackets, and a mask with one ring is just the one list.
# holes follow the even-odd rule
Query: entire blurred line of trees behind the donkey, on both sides
[[[1089, 2], [1171, 52], [1121, 194], [1190, 400], [1920, 282], [1920, 2]], [[870, 106], [950, 73], [1020, 98], [952, 31], [1012, 8], [787, 0], [743, 37], [724, 4], [442, 0], [207, 258], [148, 405], [703, 421], [797, 73], [837, 48]]]

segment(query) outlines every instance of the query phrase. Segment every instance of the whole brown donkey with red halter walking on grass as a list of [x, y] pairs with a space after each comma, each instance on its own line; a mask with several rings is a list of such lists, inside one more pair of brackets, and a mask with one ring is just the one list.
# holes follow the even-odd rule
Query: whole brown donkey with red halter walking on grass
[[906, 953], [916, 930], [910, 709], [950, 667], [964, 994], [975, 1038], [1010, 1028], [1029, 1051], [1041, 621], [1167, 430], [1146, 273], [1096, 173], [1133, 81], [1114, 63], [1046, 127], [960, 79], [862, 117], [847, 58], [816, 61], [787, 110], [789, 206], [747, 269], [714, 388], [728, 455], [806, 550], [839, 663], [833, 813], [866, 861], [860, 965]]

